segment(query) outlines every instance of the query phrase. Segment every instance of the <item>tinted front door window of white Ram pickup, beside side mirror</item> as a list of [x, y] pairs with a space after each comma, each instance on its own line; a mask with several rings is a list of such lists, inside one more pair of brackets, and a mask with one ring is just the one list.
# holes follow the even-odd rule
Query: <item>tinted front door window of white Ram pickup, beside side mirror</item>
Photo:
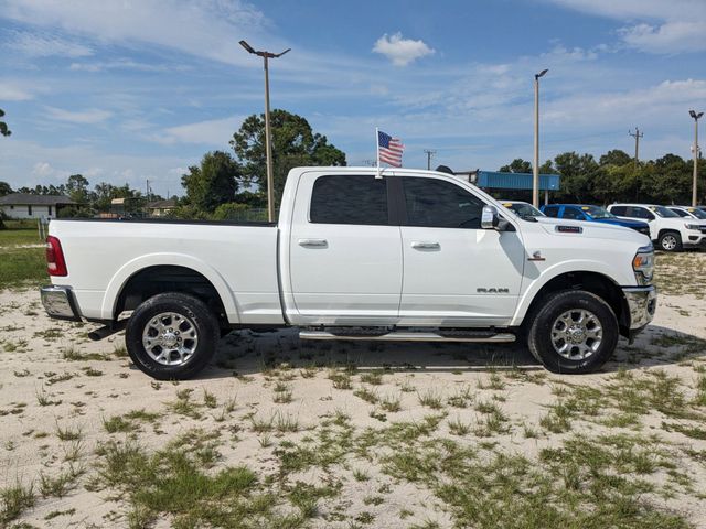
[[485, 205], [480, 198], [451, 182], [403, 177], [408, 226], [435, 228], [481, 227]]

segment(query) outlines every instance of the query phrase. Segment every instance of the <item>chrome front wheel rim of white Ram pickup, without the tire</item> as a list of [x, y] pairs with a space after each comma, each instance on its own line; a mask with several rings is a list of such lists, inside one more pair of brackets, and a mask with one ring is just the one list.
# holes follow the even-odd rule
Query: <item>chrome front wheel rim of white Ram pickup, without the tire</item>
[[590, 311], [567, 311], [552, 325], [552, 345], [564, 358], [582, 360], [598, 350], [603, 330], [600, 321]]

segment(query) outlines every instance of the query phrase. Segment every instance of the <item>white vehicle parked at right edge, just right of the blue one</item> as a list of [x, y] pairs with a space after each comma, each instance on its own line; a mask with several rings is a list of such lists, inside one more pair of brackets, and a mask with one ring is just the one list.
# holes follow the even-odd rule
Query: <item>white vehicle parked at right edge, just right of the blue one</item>
[[650, 225], [650, 238], [664, 251], [706, 247], [706, 224], [685, 219], [665, 206], [611, 204], [608, 210], [622, 218], [638, 218]]

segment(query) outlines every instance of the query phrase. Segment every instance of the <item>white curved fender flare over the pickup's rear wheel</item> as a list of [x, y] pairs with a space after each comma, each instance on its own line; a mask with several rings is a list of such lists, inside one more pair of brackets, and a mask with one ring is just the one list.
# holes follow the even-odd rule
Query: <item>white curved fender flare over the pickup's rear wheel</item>
[[118, 271], [113, 276], [108, 288], [103, 296], [103, 303], [100, 306], [100, 315], [104, 320], [113, 320], [115, 309], [118, 302], [118, 298], [127, 282], [141, 270], [150, 267], [183, 267], [189, 268], [195, 272], [201, 273], [206, 278], [213, 288], [218, 293], [223, 307], [225, 309], [226, 316], [231, 323], [239, 323], [240, 315], [237, 306], [237, 302], [233, 295], [233, 292], [228, 288], [225, 279], [210, 264], [196, 259], [193, 256], [184, 253], [160, 252], [149, 253], [147, 256], [140, 256], [126, 262]]

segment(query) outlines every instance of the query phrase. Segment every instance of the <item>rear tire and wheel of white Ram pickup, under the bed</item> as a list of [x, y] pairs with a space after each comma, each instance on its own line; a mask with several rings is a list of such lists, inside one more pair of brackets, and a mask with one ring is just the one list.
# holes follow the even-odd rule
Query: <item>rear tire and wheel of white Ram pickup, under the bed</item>
[[206, 367], [218, 336], [218, 322], [204, 302], [168, 292], [150, 298], [135, 310], [125, 343], [141, 371], [158, 380], [183, 380]]

